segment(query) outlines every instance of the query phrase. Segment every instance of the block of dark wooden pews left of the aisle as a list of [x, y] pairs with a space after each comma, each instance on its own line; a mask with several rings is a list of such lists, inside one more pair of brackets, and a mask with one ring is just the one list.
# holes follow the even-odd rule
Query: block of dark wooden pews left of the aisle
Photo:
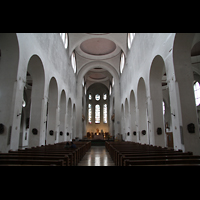
[[77, 148], [65, 149], [66, 142], [26, 148], [24, 150], [0, 153], [0, 165], [4, 166], [76, 166], [86, 151], [91, 147], [91, 142], [74, 142]]

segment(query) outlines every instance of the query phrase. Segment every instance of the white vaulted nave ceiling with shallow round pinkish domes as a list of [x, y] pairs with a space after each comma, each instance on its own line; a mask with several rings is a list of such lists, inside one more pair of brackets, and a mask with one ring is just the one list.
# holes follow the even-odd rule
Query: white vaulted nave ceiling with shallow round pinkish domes
[[84, 81], [87, 88], [100, 82], [109, 88], [112, 72], [98, 63], [109, 64], [119, 72], [120, 56], [127, 53], [127, 33], [69, 33], [69, 55], [75, 51], [77, 73], [94, 62], [94, 68], [86, 72]]

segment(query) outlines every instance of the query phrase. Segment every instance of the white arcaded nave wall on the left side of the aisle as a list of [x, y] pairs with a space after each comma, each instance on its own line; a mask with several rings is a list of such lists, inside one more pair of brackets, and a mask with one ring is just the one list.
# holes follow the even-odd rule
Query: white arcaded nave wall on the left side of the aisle
[[[13, 37], [13, 36], [12, 36]], [[21, 115], [17, 116], [21, 113], [22, 109], [22, 98], [23, 98], [23, 90], [24, 85], [26, 82], [26, 72], [28, 67], [28, 62], [33, 55], [37, 55], [42, 62], [44, 68], [44, 96], [41, 105], [41, 123], [40, 123], [40, 130], [39, 130], [39, 142], [37, 145], [42, 145], [45, 143], [45, 134], [46, 134], [46, 106], [48, 101], [48, 91], [49, 91], [49, 82], [52, 77], [55, 78], [58, 85], [58, 96], [57, 102], [60, 102], [61, 91], [64, 90], [66, 93], [66, 100], [68, 101], [71, 98], [72, 105], [76, 103], [76, 76], [72, 70], [70, 59], [68, 57], [68, 50], [64, 48], [62, 43], [62, 39], [59, 33], [20, 33], [16, 34], [18, 48], [19, 48], [19, 59], [18, 64], [15, 64], [15, 69], [17, 72], [8, 74], [7, 77], [14, 77], [16, 80], [15, 83], [13, 82], [14, 89], [11, 91], [10, 94], [13, 96], [10, 98], [12, 103], [10, 103], [13, 113], [13, 119], [10, 119], [8, 122], [4, 122], [6, 126], [6, 131], [3, 135], [1, 135], [2, 139], [0, 144], [0, 151], [6, 152], [9, 149], [16, 150], [19, 146], [19, 132], [20, 132], [20, 121]], [[0, 39], [0, 49], [2, 49], [1, 60], [4, 60], [4, 46], [10, 44], [11, 36], [6, 34], [1, 34]], [[12, 45], [10, 45], [12, 47]], [[10, 49], [11, 49], [10, 47]], [[6, 49], [5, 49], [6, 50]], [[11, 50], [10, 50], [11, 51]], [[14, 50], [13, 50], [14, 51]], [[17, 50], [13, 52], [13, 55], [17, 56]], [[10, 57], [7, 56], [12, 61], [13, 55]], [[0, 69], [3, 70], [5, 68], [4, 63], [0, 63]], [[9, 70], [9, 69], [8, 69]], [[1, 76], [5, 76], [6, 72], [3, 72]], [[12, 75], [13, 74], [13, 75]], [[34, 80], [33, 80], [34, 84]], [[1, 90], [4, 89], [5, 86], [1, 84]], [[12, 87], [10, 87], [12, 88]], [[4, 99], [0, 99], [1, 102], [4, 102]], [[66, 102], [67, 105], [67, 102]], [[13, 106], [13, 107], [12, 107]], [[57, 110], [59, 111], [59, 103], [57, 105]], [[6, 109], [6, 108], [5, 108]], [[4, 109], [3, 109], [4, 110]], [[5, 111], [6, 112], [6, 111]], [[10, 112], [6, 112], [4, 117], [9, 116]], [[59, 114], [57, 114], [59, 116]], [[34, 120], [34, 119], [32, 119]], [[59, 132], [60, 122], [59, 120], [56, 121], [55, 131]], [[12, 126], [11, 132], [11, 140], [10, 145], [6, 144], [6, 140], [8, 137], [8, 128]], [[71, 130], [69, 130], [71, 131]], [[66, 134], [67, 128], [65, 127], [64, 134]], [[30, 130], [30, 134], [31, 130]], [[47, 133], [48, 134], [48, 133]], [[55, 135], [54, 135], [55, 136]]]

